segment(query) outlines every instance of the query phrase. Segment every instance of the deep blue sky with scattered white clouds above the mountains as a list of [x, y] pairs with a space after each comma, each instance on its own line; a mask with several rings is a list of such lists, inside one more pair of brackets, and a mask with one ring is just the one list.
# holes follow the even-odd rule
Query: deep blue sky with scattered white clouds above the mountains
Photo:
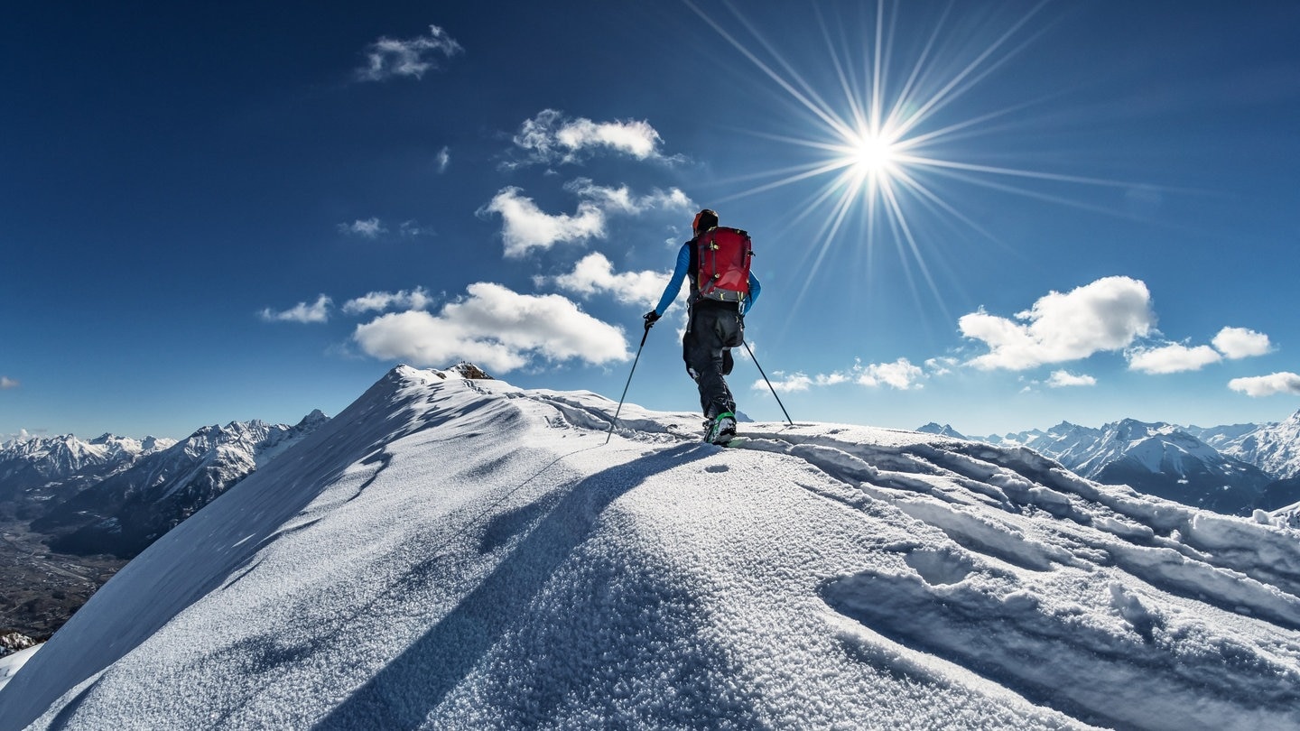
[[[703, 206], [796, 419], [1300, 406], [1295, 3], [190, 5], [5, 10], [0, 438], [292, 423], [400, 362], [618, 398]], [[849, 165], [878, 69], [922, 114]], [[629, 401], [696, 408], [682, 312]]]

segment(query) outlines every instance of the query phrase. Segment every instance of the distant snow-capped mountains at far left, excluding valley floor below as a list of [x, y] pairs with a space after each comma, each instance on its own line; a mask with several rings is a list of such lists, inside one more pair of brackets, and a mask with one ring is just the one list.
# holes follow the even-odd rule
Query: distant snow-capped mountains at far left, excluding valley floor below
[[0, 445], [0, 516], [29, 522], [53, 550], [131, 558], [328, 416], [296, 425], [231, 421], [190, 437], [58, 436]]

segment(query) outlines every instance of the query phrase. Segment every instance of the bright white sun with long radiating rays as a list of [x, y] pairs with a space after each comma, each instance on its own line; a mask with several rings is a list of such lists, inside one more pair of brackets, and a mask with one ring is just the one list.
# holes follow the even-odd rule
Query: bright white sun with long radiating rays
[[[829, 250], [841, 243], [842, 229], [852, 219], [861, 217], [861, 235], [853, 235], [849, 241], [866, 247], [868, 261], [872, 260], [870, 252], [878, 242], [893, 243], [914, 294], [919, 294], [923, 281], [946, 313], [918, 224], [922, 220], [932, 222], [936, 217], [946, 219], [989, 239], [996, 237], [965, 213], [950, 195], [945, 195], [940, 182], [976, 185], [1065, 204], [1074, 202], [1044, 193], [1041, 183], [1130, 185], [979, 164], [968, 157], [963, 160], [962, 142], [980, 137], [991, 126], [1035, 103], [1032, 99], [1023, 100], [970, 116], [961, 114], [961, 105], [954, 104], [1036, 38], [1028, 26], [1048, 0], [1023, 16], [1009, 18], [1006, 26], [988, 36], [988, 44], [983, 47], [952, 43], [952, 38], [945, 36], [945, 31], [954, 23], [950, 17], [954, 5], [949, 5], [928, 26], [928, 34], [919, 39], [920, 43], [909, 47], [914, 51], [914, 56], [909, 59], [890, 57], [901, 56], [901, 44], [894, 38], [900, 25], [900, 4], [876, 0], [872, 17], [866, 21], [861, 33], [853, 33], [852, 23], [838, 20], [828, 22], [822, 16], [822, 5], [812, 4], [810, 8], [819, 22], [827, 49], [827, 68], [820, 77], [814, 78], [827, 78], [824, 72], [829, 70], [833, 74], [829, 77], [833, 78], [831, 86], [810, 83], [731, 3], [724, 3], [734, 20], [734, 23], [728, 25], [748, 33], [746, 42], [737, 39], [692, 0], [684, 1], [734, 51], [786, 92], [796, 109], [814, 121], [806, 137], [754, 130], [753, 134], [758, 137], [801, 146], [812, 150], [814, 155], [803, 164], [751, 176], [749, 179], [754, 185], [722, 199], [820, 181], [820, 186], [806, 200], [793, 207], [800, 213], [793, 217], [792, 226], [801, 225], [810, 216], [819, 221], [816, 245], [810, 250], [812, 261], [809, 278], [800, 299], [811, 287], [812, 277], [820, 271]], [[760, 57], [755, 49], [767, 53]], [[1040, 185], [1022, 185], [1026, 181]]]

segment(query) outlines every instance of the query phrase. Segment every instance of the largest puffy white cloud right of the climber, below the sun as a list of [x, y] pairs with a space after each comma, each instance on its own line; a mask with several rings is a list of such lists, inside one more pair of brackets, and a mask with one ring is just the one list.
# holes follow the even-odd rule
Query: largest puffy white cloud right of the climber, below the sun
[[1028, 311], [1017, 313], [1015, 320], [983, 310], [962, 316], [958, 320], [962, 334], [989, 347], [989, 352], [968, 364], [1023, 371], [1083, 359], [1101, 350], [1121, 350], [1152, 330], [1156, 313], [1145, 284], [1130, 277], [1105, 277], [1065, 294], [1053, 291]]

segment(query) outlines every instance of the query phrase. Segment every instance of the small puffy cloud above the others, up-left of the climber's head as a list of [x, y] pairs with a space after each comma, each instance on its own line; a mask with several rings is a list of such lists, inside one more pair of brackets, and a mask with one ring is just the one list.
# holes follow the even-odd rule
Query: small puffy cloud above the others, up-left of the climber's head
[[659, 144], [663, 138], [646, 121], [594, 122], [568, 118], [556, 109], [543, 109], [525, 121], [514, 137], [516, 147], [528, 156], [520, 166], [532, 163], [578, 163], [589, 153], [610, 150], [637, 160], [663, 160]]

